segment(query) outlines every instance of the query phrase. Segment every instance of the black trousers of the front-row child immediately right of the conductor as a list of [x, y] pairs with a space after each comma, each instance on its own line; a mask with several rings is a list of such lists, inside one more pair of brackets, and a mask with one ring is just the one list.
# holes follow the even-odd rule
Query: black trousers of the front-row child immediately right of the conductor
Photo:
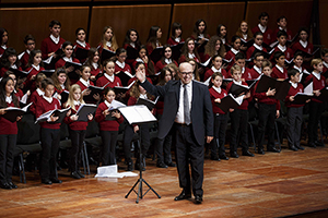
[[[211, 142], [211, 154], [212, 156], [225, 154], [225, 131], [227, 126], [227, 114], [214, 114], [214, 140]], [[219, 145], [218, 145], [219, 140]]]

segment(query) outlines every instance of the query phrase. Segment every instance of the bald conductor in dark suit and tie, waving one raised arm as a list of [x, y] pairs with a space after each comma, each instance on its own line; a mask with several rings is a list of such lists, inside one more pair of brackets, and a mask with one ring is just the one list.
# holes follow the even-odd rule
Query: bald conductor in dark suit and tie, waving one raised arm
[[[152, 95], [164, 97], [164, 111], [159, 125], [159, 138], [173, 131], [176, 146], [176, 161], [179, 184], [183, 192], [175, 201], [187, 199], [195, 195], [195, 203], [202, 202], [204, 141], [213, 140], [213, 112], [207, 86], [192, 81], [192, 65], [179, 65], [178, 81], [169, 81], [165, 86], [154, 86], [145, 80], [144, 72], [137, 71], [141, 86]], [[189, 160], [191, 178], [189, 174]]]

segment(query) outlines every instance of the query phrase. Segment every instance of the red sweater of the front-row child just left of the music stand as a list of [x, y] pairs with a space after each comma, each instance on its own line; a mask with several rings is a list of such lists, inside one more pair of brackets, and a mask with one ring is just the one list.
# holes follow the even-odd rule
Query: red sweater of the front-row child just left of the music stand
[[121, 114], [119, 119], [105, 120], [106, 117], [103, 114], [103, 111], [107, 109], [106, 104], [101, 102], [95, 113], [95, 121], [99, 123], [101, 131], [118, 131], [119, 124], [124, 121], [124, 117]]

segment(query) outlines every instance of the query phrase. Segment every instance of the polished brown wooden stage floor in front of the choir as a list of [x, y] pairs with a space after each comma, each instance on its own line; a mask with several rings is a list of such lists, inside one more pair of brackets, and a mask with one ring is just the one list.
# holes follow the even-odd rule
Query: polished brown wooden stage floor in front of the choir
[[[325, 210], [327, 158], [326, 144], [301, 152], [284, 147], [280, 154], [227, 161], [206, 159], [201, 205], [174, 202], [180, 192], [176, 169], [156, 168], [152, 160], [147, 161], [143, 178], [162, 198], [149, 192], [139, 204], [133, 193], [125, 198], [137, 178], [95, 179], [93, 168], [86, 179], [73, 180], [60, 171], [62, 184], [43, 185], [38, 174], [28, 172], [26, 184], [14, 177], [17, 190], [0, 190], [0, 217], [284, 217]], [[328, 215], [320, 211], [319, 216], [300, 217]]]

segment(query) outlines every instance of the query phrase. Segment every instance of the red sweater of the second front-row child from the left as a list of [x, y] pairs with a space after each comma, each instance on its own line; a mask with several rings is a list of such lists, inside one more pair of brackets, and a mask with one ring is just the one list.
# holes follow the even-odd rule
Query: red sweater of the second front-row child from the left
[[[51, 102], [48, 102], [44, 97], [39, 97], [36, 102], [35, 117], [38, 118], [45, 112], [54, 109], [61, 109], [60, 102], [57, 98], [52, 98]], [[45, 129], [59, 130], [61, 123], [54, 122], [40, 122], [39, 125]]]

